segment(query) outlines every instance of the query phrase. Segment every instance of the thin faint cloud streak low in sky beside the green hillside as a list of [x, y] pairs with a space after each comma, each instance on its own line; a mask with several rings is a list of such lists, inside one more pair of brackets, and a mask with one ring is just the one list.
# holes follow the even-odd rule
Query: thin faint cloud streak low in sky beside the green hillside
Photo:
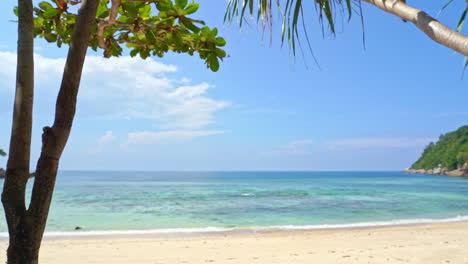
[[349, 138], [339, 139], [328, 142], [328, 149], [367, 149], [367, 148], [410, 148], [423, 147], [429, 142], [434, 141], [433, 138]]

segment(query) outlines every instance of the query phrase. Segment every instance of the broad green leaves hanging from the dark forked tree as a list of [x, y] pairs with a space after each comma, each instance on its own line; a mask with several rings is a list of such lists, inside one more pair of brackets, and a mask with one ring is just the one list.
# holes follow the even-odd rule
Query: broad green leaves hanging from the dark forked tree
[[[35, 36], [57, 46], [69, 44], [77, 14], [71, 0], [43, 1], [34, 8]], [[152, 4], [154, 6], [152, 6]], [[115, 9], [114, 9], [115, 5]], [[120, 56], [123, 48], [132, 57], [162, 57], [166, 52], [198, 53], [211, 70], [219, 69], [219, 60], [226, 57], [221, 49], [226, 41], [216, 28], [190, 17], [199, 4], [188, 0], [115, 1], [100, 0], [89, 46], [104, 50], [104, 57]], [[15, 8], [15, 14], [17, 9]]]

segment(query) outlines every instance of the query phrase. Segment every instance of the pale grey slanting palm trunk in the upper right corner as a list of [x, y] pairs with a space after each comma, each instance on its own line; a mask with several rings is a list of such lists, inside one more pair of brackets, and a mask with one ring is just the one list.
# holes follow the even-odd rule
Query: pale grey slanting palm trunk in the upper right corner
[[385, 12], [412, 22], [435, 42], [468, 56], [468, 36], [443, 25], [426, 12], [407, 5], [401, 0], [363, 0]]

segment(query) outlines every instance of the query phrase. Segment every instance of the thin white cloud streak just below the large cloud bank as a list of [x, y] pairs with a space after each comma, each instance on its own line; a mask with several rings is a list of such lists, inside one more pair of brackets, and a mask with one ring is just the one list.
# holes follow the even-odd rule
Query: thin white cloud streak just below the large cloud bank
[[138, 131], [131, 132], [128, 134], [127, 141], [122, 144], [122, 147], [129, 145], [140, 145], [140, 144], [157, 144], [160, 142], [168, 141], [180, 141], [192, 139], [194, 137], [211, 136], [216, 134], [222, 134], [225, 131], [219, 130], [172, 130], [172, 131]]

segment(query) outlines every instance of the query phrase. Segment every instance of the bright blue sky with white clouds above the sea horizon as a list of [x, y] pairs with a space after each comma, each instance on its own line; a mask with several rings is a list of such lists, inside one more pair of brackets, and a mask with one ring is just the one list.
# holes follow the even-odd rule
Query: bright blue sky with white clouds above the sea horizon
[[[464, 1], [438, 18], [456, 26]], [[105, 59], [88, 51], [62, 170], [401, 170], [442, 133], [468, 123], [463, 57], [411, 23], [363, 3], [322, 34], [306, 17], [310, 53], [281, 47], [250, 21], [223, 22], [227, 1], [194, 17], [218, 27], [229, 55], [219, 72], [198, 57]], [[436, 15], [444, 1], [412, 1]], [[0, 148], [8, 150], [16, 65], [15, 1], [0, 11]], [[341, 21], [341, 20], [339, 20]], [[67, 48], [35, 41], [31, 166], [53, 121]], [[101, 51], [102, 52], [102, 51]], [[465, 74], [466, 75], [466, 74]], [[6, 158], [0, 157], [0, 167]]]

